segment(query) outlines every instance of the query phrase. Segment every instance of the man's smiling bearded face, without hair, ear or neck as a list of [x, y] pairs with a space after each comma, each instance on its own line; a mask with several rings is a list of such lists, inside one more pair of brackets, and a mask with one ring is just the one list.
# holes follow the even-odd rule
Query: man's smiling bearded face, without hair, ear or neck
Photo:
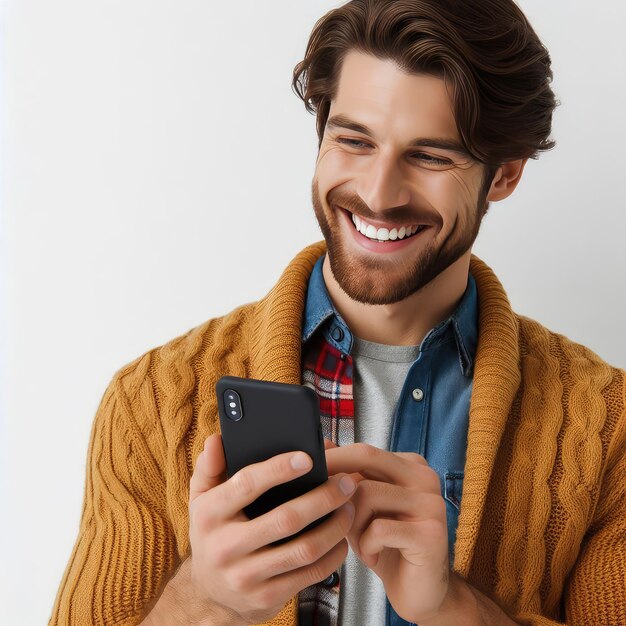
[[[371, 136], [349, 128], [351, 122]], [[454, 145], [432, 147], [428, 140], [462, 149], [443, 80], [349, 52], [312, 195], [333, 276], [353, 300], [403, 300], [469, 254], [478, 235], [488, 207], [484, 166]], [[353, 215], [365, 221], [365, 235]], [[415, 226], [424, 228], [407, 238]]]

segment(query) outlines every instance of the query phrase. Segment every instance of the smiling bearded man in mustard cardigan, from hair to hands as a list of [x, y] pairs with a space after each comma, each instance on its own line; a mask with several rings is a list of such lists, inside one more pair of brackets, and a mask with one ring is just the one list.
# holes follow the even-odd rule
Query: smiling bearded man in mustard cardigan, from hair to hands
[[[52, 624], [626, 623], [626, 373], [515, 314], [471, 254], [553, 145], [550, 78], [508, 0], [316, 24], [294, 85], [325, 241], [116, 374]], [[225, 374], [316, 390], [327, 483], [243, 514], [310, 460], [227, 479]]]

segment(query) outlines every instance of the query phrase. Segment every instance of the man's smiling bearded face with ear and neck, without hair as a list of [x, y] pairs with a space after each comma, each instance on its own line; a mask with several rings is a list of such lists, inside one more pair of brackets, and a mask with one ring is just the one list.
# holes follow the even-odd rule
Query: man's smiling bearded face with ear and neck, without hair
[[417, 345], [454, 311], [487, 202], [513, 191], [525, 162], [486, 180], [489, 168], [461, 143], [442, 79], [346, 54], [313, 206], [328, 246], [324, 281], [354, 334]]

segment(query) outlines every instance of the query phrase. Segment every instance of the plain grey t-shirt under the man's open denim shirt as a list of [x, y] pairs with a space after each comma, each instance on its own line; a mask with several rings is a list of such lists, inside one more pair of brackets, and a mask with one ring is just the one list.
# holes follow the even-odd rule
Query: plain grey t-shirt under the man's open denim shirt
[[[393, 414], [419, 346], [388, 346], [353, 337], [354, 441], [389, 450]], [[339, 624], [385, 623], [385, 588], [352, 551], [341, 568]]]

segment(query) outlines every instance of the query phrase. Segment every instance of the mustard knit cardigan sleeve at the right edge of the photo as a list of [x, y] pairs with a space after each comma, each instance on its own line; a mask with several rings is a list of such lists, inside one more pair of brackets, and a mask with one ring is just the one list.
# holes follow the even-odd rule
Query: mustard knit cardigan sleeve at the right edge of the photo
[[[626, 624], [626, 412], [609, 451], [598, 504], [562, 598], [567, 626]], [[520, 613], [521, 624], [557, 626]]]

